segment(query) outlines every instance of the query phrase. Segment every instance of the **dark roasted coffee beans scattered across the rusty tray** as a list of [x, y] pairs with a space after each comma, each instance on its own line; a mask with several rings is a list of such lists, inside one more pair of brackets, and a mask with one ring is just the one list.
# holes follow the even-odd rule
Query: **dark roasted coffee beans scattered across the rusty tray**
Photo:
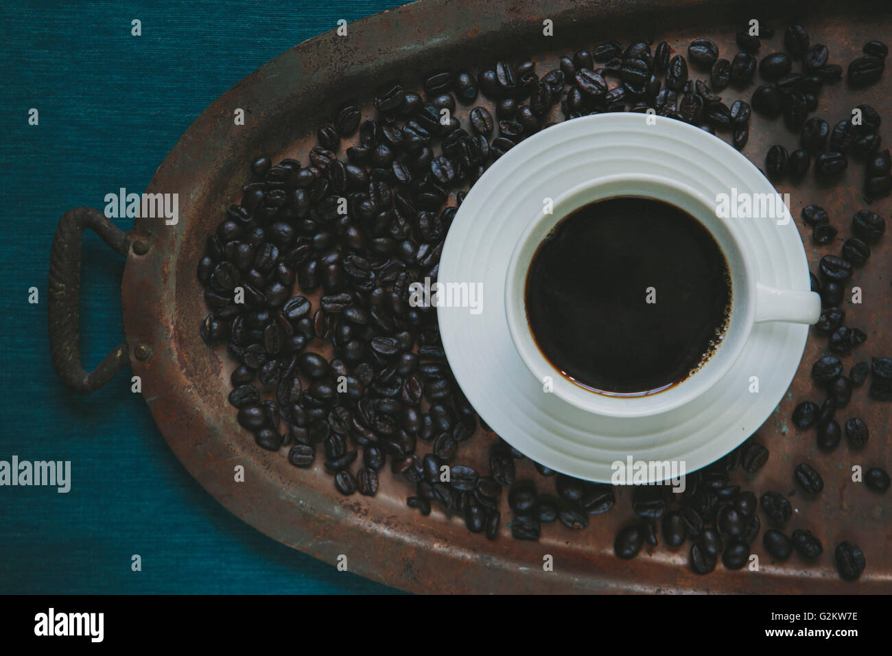
[[[763, 27], [761, 37], [772, 37], [772, 31]], [[851, 152], [866, 162], [866, 193], [888, 194], [889, 155], [878, 153], [875, 110], [862, 105], [860, 125], [847, 119], [832, 130], [826, 121], [808, 118], [822, 87], [842, 78], [842, 67], [827, 62], [827, 47], [811, 44], [805, 28], [793, 25], [784, 34], [786, 52], [757, 60], [761, 37], [739, 33], [739, 52], [727, 57], [708, 38], [692, 41], [687, 57], [665, 41], [653, 49], [644, 41], [625, 47], [611, 42], [562, 56], [544, 72], [530, 61], [496, 62], [476, 74], [431, 71], [417, 91], [396, 82], [380, 88], [372, 113], [359, 102], [344, 103], [330, 124], [318, 128], [308, 162], [258, 156], [241, 202], [227, 209], [198, 263], [211, 310], [202, 338], [225, 345], [235, 361], [229, 402], [239, 424], [261, 448], [285, 450], [296, 468], [312, 467], [321, 453], [341, 494], [374, 496], [389, 466], [414, 490], [409, 507], [458, 515], [469, 531], [490, 539], [500, 532], [505, 490], [510, 533], [520, 540], [538, 540], [542, 525], [554, 522], [581, 530], [591, 516], [610, 511], [612, 486], [538, 463], [537, 480], [518, 479], [516, 463], [524, 455], [498, 436], [491, 437], [486, 470], [461, 463], [463, 445], [481, 434], [478, 425], [487, 431], [483, 435], [492, 434], [452, 375], [435, 309], [410, 303], [410, 287], [436, 279], [443, 240], [467, 188], [491, 162], [561, 115], [572, 120], [652, 110], [724, 133], [739, 150], [747, 144], [754, 111], [766, 118], [782, 115], [800, 134], [801, 148], [789, 154], [773, 146], [766, 161], [770, 175], [801, 178], [814, 157], [816, 173], [832, 177], [847, 166]], [[849, 86], [879, 79], [886, 54], [880, 42], [866, 44], [863, 56], [848, 66]], [[794, 72], [800, 61], [801, 71]], [[718, 94], [746, 88], [756, 69], [769, 83], [756, 88], [751, 102], [723, 102]], [[480, 95], [491, 101], [494, 116], [475, 105]], [[827, 212], [816, 205], [806, 210], [803, 219], [814, 227], [815, 241], [829, 242], [836, 228]], [[843, 429], [833, 415], [845, 407], [853, 386], [870, 373], [871, 396], [892, 395], [888, 358], [860, 362], [848, 377], [838, 358], [865, 339], [863, 331], [843, 324], [841, 283], [863, 266], [869, 244], [884, 229], [879, 215], [858, 212], [841, 255], [825, 256], [821, 279], [813, 276], [825, 304], [815, 331], [830, 336], [837, 355], [815, 364], [826, 401], [800, 403], [794, 423], [816, 427], [825, 450], [840, 441]], [[862, 447], [868, 435], [863, 420], [848, 419], [845, 435], [853, 448]], [[615, 537], [617, 557], [633, 558], [662, 535], [673, 549], [690, 541], [690, 567], [698, 574], [712, 571], [719, 560], [740, 569], [760, 532], [761, 506], [771, 526], [763, 535], [766, 552], [778, 561], [794, 551], [814, 561], [823, 552], [818, 537], [805, 527], [790, 536], [783, 532], [792, 516], [789, 501], [774, 491], [757, 497], [731, 478], [735, 470], [756, 472], [768, 457], [754, 436], [688, 475], [682, 494], [667, 486], [632, 488], [637, 519]], [[884, 492], [888, 474], [870, 469], [865, 482]], [[802, 494], [822, 493], [822, 477], [807, 462], [791, 472], [790, 484]], [[856, 544], [840, 543], [834, 555], [840, 576], [860, 575], [864, 557]]]

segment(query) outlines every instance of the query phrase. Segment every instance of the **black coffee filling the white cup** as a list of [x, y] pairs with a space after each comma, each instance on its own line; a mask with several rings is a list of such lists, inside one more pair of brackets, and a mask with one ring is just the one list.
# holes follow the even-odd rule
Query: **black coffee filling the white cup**
[[731, 272], [690, 214], [617, 196], [558, 223], [533, 255], [525, 301], [541, 353], [566, 378], [605, 394], [653, 394], [713, 353]]

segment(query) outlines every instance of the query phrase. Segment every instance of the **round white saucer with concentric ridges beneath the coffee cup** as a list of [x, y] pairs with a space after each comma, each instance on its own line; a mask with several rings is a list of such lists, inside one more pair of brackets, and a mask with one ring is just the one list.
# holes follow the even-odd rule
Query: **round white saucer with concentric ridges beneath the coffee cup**
[[[505, 315], [508, 261], [542, 208], [592, 178], [650, 173], [709, 197], [776, 193], [747, 158], [702, 129], [638, 113], [568, 120], [525, 139], [494, 162], [458, 209], [443, 246], [441, 283], [483, 283], [477, 314], [438, 308], [442, 343], [458, 385], [484, 421], [534, 461], [574, 477], [610, 482], [615, 461], [683, 461], [688, 473], [729, 453], [780, 403], [796, 374], [808, 326], [756, 324], [739, 360], [698, 399], [641, 418], [592, 415], [543, 392], [516, 353]], [[739, 220], [758, 278], [808, 290], [808, 262], [792, 220]], [[751, 393], [750, 379], [759, 391]]]

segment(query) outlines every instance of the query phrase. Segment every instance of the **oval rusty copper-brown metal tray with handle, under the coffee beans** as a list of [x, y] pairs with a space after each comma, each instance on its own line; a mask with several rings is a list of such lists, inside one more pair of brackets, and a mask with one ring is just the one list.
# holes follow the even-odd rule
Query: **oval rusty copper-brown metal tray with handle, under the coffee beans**
[[[892, 494], [871, 494], [848, 482], [848, 477], [853, 464], [888, 469], [892, 460], [890, 404], [868, 400], [864, 388], [855, 390], [845, 412], [862, 415], [871, 428], [871, 441], [863, 453], [852, 453], [843, 444], [835, 453], [822, 454], [813, 433], [799, 434], [789, 422], [795, 403], [817, 396], [809, 370], [826, 347], [825, 338], [810, 337], [797, 378], [758, 431], [771, 450], [768, 464], [756, 475], [736, 472], [737, 482], [747, 489], [777, 489], [786, 494], [793, 490], [795, 463], [807, 460], [822, 470], [826, 486], [818, 500], [790, 497], [796, 513], [801, 513], [791, 525], [810, 528], [822, 538], [822, 560], [807, 567], [794, 557], [775, 566], [758, 539], [753, 548], [762, 559], [760, 571], [727, 571], [720, 566], [713, 574], [698, 577], [687, 567], [686, 547], [673, 552], [662, 545], [646, 546], [633, 561], [615, 558], [617, 527], [632, 518], [629, 490], [619, 490], [617, 507], [591, 518], [586, 530], [549, 525], [543, 527], [538, 543], [519, 542], [508, 535], [511, 517], [507, 494], [503, 494], [501, 535], [490, 542], [470, 534], [457, 517], [447, 519], [438, 510], [423, 517], [409, 509], [405, 499], [413, 494], [411, 486], [389, 474], [382, 476], [376, 497], [343, 497], [319, 459], [315, 469], [302, 470], [293, 468], [285, 453], [263, 451], [237, 425], [235, 411], [227, 403], [232, 363], [225, 353], [211, 352], [199, 336], [207, 310], [195, 277], [205, 237], [239, 197], [248, 177], [247, 162], [261, 153], [306, 162], [315, 145], [315, 127], [330, 120], [335, 108], [350, 97], [359, 98], [371, 115], [374, 90], [386, 80], [400, 79], [406, 87], [420, 87], [425, 71], [447, 66], [476, 71], [481, 62], [500, 58], [514, 62], [531, 58], [541, 74], [557, 68], [559, 54], [607, 40], [628, 43], [632, 38], [654, 43], [665, 39], [684, 53], [691, 39], [711, 37], [723, 55], [733, 54], [737, 52], [735, 31], [754, 17], [777, 30], [763, 46], [763, 54], [772, 46], [780, 48], [782, 29], [796, 19], [809, 29], [813, 43], [829, 46], [831, 62], [845, 66], [864, 41], [888, 40], [892, 13], [883, 5], [777, 0], [546, 0], [535, 4], [424, 0], [352, 23], [349, 37], [333, 31], [312, 38], [211, 104], [161, 164], [146, 191], [179, 194], [178, 225], [140, 219], [132, 233], [125, 234], [99, 212], [80, 209], [63, 218], [51, 270], [54, 361], [62, 377], [80, 392], [102, 386], [129, 363], [142, 377], [145, 401], [170, 448], [229, 511], [284, 544], [333, 564], [344, 554], [352, 571], [406, 590], [888, 593], [892, 591]], [[545, 19], [553, 21], [554, 37], [543, 36]], [[885, 114], [884, 120], [892, 120], [888, 116], [890, 91], [888, 72], [879, 84], [856, 95], [840, 82], [822, 94], [817, 113], [833, 125], [855, 104], [869, 103]], [[751, 89], [742, 95], [730, 89], [723, 93], [725, 100], [748, 100], [750, 94]], [[481, 96], [477, 103], [486, 101]], [[244, 126], [234, 124], [238, 108], [244, 109]], [[882, 131], [887, 141], [892, 138], [888, 125]], [[797, 136], [787, 132], [782, 121], [754, 117], [745, 154], [762, 165], [772, 143], [789, 147], [797, 143]], [[812, 270], [822, 254], [838, 252], [849, 235], [851, 215], [867, 207], [860, 194], [862, 171], [851, 167], [837, 187], [819, 188], [811, 175], [798, 186], [779, 186], [780, 192], [791, 195], [794, 217], [803, 205], [819, 203], [839, 228], [837, 240], [819, 248], [800, 226]], [[889, 198], [871, 205], [886, 217], [889, 208]], [[92, 374], [80, 369], [78, 356], [79, 233], [84, 227], [97, 229], [115, 250], [127, 255], [121, 293], [127, 341]], [[864, 303], [846, 304], [847, 325], [863, 328], [868, 340], [847, 358], [847, 365], [869, 359], [871, 354], [892, 353], [892, 244], [888, 234], [884, 239], [873, 249], [868, 266], [853, 279], [852, 284], [863, 288]], [[481, 430], [463, 448], [461, 460], [482, 465], [495, 439]], [[518, 464], [518, 478], [533, 477], [529, 461]], [[244, 466], [244, 483], [234, 482], [236, 465]], [[544, 482], [540, 489], [552, 485]], [[867, 569], [855, 584], [841, 581], [833, 569], [830, 554], [842, 539], [854, 539], [866, 554]], [[554, 571], [543, 571], [545, 554], [553, 556]]]

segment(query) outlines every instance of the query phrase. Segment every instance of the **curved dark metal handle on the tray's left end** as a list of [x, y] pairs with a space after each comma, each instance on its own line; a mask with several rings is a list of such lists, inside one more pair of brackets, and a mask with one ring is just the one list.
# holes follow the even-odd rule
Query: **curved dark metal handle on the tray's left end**
[[62, 214], [53, 237], [49, 274], [50, 354], [59, 378], [78, 394], [90, 394], [105, 386], [129, 361], [127, 342], [85, 371], [80, 364], [80, 252], [84, 228], [90, 228], [115, 253], [127, 256], [130, 233], [92, 207], [78, 207]]

